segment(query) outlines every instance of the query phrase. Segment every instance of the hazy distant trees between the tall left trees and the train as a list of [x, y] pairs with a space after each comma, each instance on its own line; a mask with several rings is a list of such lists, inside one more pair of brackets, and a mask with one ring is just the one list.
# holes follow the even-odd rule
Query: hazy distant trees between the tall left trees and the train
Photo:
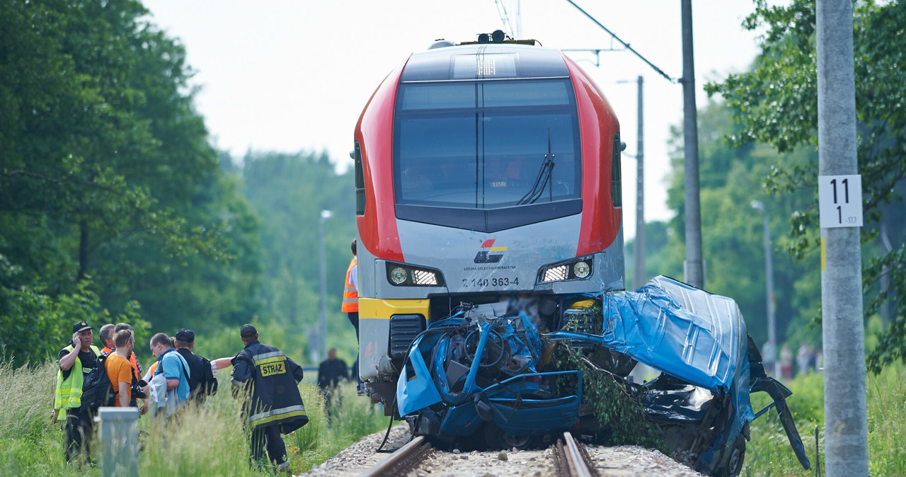
[[[350, 243], [356, 236], [352, 171], [338, 174], [324, 154], [250, 152], [242, 163], [248, 203], [263, 224], [262, 313], [276, 325], [297, 331], [293, 345], [310, 339], [318, 320], [318, 224], [321, 211], [333, 212], [323, 220], [327, 345], [351, 362], [358, 351], [355, 330], [340, 306], [352, 258]], [[323, 358], [309, 363], [316, 365]]]

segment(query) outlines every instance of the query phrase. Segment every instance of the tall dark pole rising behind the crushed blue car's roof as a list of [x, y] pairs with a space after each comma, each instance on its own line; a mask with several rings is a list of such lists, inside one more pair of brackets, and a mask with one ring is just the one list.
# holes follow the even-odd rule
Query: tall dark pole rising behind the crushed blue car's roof
[[699, 126], [695, 107], [695, 63], [692, 59], [692, 0], [682, 0], [682, 92], [683, 149], [686, 166], [686, 261], [684, 280], [705, 288], [701, 259], [701, 212], [699, 206]]

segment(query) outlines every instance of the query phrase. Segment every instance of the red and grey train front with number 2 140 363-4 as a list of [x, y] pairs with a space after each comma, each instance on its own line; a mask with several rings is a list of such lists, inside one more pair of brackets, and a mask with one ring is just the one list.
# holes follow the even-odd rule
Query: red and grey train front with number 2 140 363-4
[[435, 46], [355, 130], [359, 369], [387, 404], [412, 340], [463, 304], [553, 329], [564, 298], [623, 289], [620, 129], [601, 91], [557, 50]]

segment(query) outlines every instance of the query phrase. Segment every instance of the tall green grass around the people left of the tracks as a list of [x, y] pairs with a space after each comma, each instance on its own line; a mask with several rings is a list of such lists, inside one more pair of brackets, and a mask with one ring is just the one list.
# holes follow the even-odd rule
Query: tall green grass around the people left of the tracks
[[[140, 420], [140, 473], [143, 475], [268, 475], [248, 464], [247, 436], [239, 405], [230, 396], [228, 373], [218, 374], [220, 392], [203, 407], [187, 408], [171, 423]], [[0, 475], [101, 475], [101, 465], [67, 466], [63, 459], [63, 425], [52, 424], [56, 366], [14, 369], [0, 363]], [[330, 418], [317, 386], [300, 386], [310, 422], [284, 435], [294, 473], [323, 463], [362, 435], [385, 428], [388, 419], [378, 405], [356, 396], [355, 385], [340, 387]], [[95, 446], [95, 449], [98, 449]], [[95, 451], [95, 456], [100, 452]]]

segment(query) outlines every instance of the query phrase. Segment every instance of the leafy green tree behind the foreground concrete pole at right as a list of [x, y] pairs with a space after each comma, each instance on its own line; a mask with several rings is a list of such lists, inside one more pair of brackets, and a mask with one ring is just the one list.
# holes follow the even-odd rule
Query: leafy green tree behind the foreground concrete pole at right
[[[856, 117], [859, 172], [863, 176], [865, 228], [863, 243], [878, 235], [883, 220], [894, 245], [876, 256], [863, 270], [863, 289], [869, 296], [866, 313], [875, 313], [886, 298], [896, 301], [896, 317], [879, 335], [879, 344], [867, 356], [868, 367], [879, 371], [894, 359], [906, 358], [906, 224], [892, 221], [892, 204], [902, 202], [906, 190], [906, 56], [901, 52], [906, 5], [901, 0], [853, 3]], [[811, 0], [793, 0], [783, 6], [756, 3], [744, 26], [764, 29], [761, 52], [751, 72], [729, 75], [706, 85], [710, 94], [728, 102], [739, 131], [729, 136], [737, 146], [764, 143], [780, 153], [817, 144], [817, 76], [815, 14]], [[792, 220], [791, 251], [802, 256], [818, 243], [817, 163], [778, 166], [769, 185], [778, 192], [807, 190], [812, 200]], [[902, 207], [897, 207], [901, 209]], [[885, 213], [888, 215], [885, 217]], [[879, 293], [879, 281], [889, 272], [891, 288]]]

